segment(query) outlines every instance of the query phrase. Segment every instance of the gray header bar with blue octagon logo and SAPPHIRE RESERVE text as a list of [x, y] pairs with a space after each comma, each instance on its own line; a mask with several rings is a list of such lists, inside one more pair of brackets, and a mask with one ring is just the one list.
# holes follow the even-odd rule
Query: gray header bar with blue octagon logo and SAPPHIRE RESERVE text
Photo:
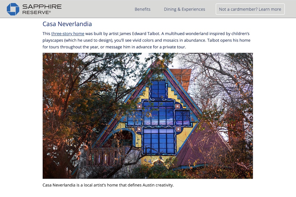
[[1, 18], [295, 18], [296, 1], [0, 1]]

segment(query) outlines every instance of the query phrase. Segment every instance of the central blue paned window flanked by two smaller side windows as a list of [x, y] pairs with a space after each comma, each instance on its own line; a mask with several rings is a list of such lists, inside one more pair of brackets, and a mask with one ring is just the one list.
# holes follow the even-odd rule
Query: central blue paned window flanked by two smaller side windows
[[173, 125], [173, 102], [144, 102], [144, 125]]

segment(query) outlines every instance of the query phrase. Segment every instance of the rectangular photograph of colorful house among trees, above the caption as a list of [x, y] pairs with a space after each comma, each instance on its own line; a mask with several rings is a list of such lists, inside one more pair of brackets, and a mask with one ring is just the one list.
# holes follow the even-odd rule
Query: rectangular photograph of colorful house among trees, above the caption
[[252, 179], [253, 53], [43, 53], [42, 116], [43, 179]]

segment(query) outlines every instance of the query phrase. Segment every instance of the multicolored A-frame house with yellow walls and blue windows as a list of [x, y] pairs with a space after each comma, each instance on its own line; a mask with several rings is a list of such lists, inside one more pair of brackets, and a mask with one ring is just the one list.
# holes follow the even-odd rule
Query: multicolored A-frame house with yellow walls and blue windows
[[[155, 68], [160, 72], [153, 74]], [[169, 69], [160, 62], [152, 63], [147, 70], [151, 81], [139, 85], [140, 81], [126, 98], [125, 102], [137, 99], [136, 110], [110, 120], [92, 145], [90, 162], [106, 163], [107, 155], [101, 149], [117, 132], [128, 134], [130, 143], [139, 147], [138, 158], [144, 156], [139, 161], [142, 164], [173, 157], [175, 168], [191, 168], [210, 164], [218, 154], [229, 151], [215, 129], [198, 126], [202, 111], [187, 93], [190, 74], [190, 69]]]

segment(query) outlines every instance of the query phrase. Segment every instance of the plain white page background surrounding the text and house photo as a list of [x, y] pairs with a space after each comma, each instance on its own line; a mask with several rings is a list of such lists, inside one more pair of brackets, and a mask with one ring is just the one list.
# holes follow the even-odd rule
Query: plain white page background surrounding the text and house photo
[[[44, 27], [85, 22], [91, 27]], [[295, 19], [0, 19], [1, 193], [16, 196], [291, 196], [295, 177]], [[250, 32], [250, 43], [189, 43], [177, 50], [50, 50], [43, 31]], [[131, 37], [131, 36], [130, 36]], [[147, 36], [148, 37], [148, 36]], [[178, 37], [178, 36], [176, 36]], [[124, 38], [128, 38], [125, 36]], [[149, 38], [153, 38], [149, 36]], [[207, 38], [207, 37], [205, 37]], [[184, 39], [184, 38], [183, 38]], [[48, 45], [48, 44], [47, 44]], [[70, 45], [70, 44], [69, 44]], [[121, 44], [120, 44], [121, 45]], [[254, 178], [252, 180], [43, 180], [43, 52], [254, 53]], [[173, 188], [54, 188], [52, 183], [171, 183]], [[294, 193], [295, 194], [295, 193]]]

